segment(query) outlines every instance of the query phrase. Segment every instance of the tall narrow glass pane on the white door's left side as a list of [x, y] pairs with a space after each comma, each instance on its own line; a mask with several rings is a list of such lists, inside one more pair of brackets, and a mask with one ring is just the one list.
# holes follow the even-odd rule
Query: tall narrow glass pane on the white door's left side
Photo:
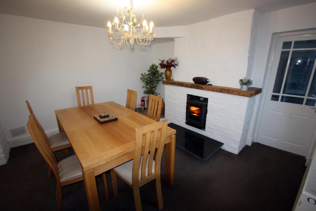
[[280, 56], [280, 61], [279, 61], [279, 66], [277, 68], [276, 72], [276, 80], [274, 82], [274, 87], [273, 87], [273, 93], [280, 93], [281, 92], [281, 87], [282, 87], [282, 82], [284, 78], [284, 73], [286, 69], [286, 64], [289, 59], [289, 51], [282, 51], [281, 56]]

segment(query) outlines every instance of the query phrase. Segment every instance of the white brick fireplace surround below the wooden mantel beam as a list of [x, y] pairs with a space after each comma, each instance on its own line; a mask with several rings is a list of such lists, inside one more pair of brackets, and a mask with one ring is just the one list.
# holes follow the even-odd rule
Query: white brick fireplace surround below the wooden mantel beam
[[[187, 94], [208, 98], [205, 130], [185, 124]], [[238, 154], [246, 146], [257, 96], [245, 97], [182, 86], [165, 85], [165, 118], [174, 124], [224, 143]]]

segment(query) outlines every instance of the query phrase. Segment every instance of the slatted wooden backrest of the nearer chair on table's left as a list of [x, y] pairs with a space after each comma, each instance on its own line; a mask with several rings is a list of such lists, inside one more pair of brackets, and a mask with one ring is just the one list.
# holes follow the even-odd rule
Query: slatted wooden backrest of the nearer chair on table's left
[[29, 115], [28, 117], [27, 129], [31, 134], [35, 146], [54, 172], [56, 180], [60, 182], [56, 157], [48, 144], [47, 138], [42, 135], [40, 129], [37, 127], [33, 115]]

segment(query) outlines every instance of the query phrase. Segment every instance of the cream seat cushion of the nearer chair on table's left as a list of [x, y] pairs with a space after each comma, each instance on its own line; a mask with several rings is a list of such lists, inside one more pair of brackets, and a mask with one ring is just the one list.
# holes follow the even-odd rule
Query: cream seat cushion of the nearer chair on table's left
[[78, 177], [82, 177], [81, 164], [76, 155], [71, 155], [58, 162], [60, 182], [66, 182]]

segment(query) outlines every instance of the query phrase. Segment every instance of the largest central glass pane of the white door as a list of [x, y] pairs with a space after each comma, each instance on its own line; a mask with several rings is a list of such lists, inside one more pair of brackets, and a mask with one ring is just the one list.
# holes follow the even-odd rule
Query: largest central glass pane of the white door
[[312, 73], [316, 50], [293, 51], [283, 94], [304, 96]]

